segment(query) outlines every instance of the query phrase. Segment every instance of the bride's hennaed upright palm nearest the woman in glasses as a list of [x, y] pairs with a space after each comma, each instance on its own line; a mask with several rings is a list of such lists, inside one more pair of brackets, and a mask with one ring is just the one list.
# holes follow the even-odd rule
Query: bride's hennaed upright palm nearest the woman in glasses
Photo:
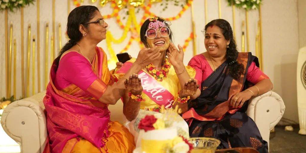
[[132, 95], [141, 95], [143, 88], [141, 86], [141, 80], [137, 74], [133, 74], [129, 77], [129, 80], [124, 82], [127, 91], [131, 92]]

